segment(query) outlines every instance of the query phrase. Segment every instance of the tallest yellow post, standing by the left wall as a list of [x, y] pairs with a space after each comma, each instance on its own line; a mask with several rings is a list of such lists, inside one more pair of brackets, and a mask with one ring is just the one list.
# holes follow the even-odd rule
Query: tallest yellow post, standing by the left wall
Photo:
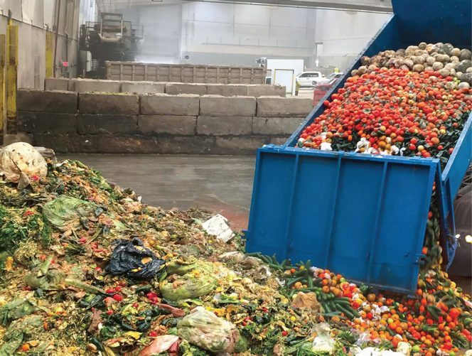
[[6, 133], [16, 134], [16, 80], [18, 77], [18, 26], [6, 27]]

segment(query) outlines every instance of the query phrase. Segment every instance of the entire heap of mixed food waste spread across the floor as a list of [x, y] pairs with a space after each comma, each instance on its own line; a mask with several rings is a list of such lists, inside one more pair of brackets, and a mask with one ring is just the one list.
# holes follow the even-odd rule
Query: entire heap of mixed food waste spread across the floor
[[310, 261], [245, 254], [239, 234], [205, 231], [210, 212], [151, 207], [78, 161], [46, 164], [12, 146], [0, 153], [0, 355], [419, 356], [471, 345], [470, 297], [438, 259], [416, 297], [375, 293]]

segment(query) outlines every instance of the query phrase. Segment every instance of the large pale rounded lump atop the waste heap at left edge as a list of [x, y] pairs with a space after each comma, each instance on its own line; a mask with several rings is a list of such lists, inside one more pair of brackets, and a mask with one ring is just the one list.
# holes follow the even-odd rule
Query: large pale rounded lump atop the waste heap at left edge
[[30, 144], [17, 142], [0, 151], [0, 176], [4, 176], [9, 182], [43, 179], [47, 173], [46, 161]]

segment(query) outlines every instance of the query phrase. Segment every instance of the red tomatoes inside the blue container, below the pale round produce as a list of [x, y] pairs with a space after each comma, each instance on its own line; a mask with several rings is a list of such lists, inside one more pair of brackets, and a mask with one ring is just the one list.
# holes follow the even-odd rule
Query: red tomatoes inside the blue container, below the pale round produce
[[472, 90], [439, 72], [380, 68], [349, 77], [323, 104], [299, 146], [447, 159], [472, 110]]

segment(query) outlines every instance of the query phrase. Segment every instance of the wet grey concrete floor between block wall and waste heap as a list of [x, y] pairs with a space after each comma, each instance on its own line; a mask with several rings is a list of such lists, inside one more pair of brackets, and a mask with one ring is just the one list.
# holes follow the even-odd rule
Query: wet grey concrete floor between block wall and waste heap
[[251, 205], [254, 156], [69, 154], [144, 203], [165, 209], [203, 207], [246, 229]]

